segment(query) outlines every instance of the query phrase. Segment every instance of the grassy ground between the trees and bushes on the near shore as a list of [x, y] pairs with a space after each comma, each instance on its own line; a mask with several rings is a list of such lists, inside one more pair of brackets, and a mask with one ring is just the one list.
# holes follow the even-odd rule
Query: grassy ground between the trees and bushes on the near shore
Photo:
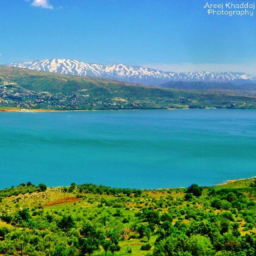
[[[145, 256], [148, 253], [154, 254], [155, 242], [158, 238], [158, 229], [161, 228], [162, 222], [154, 227], [154, 232], [149, 241], [152, 246], [150, 251], [140, 249], [143, 244], [147, 243], [147, 238], [145, 235], [139, 238], [138, 232], [134, 230], [134, 226], [148, 226], [150, 224], [149, 221], [140, 218], [138, 214], [140, 214], [142, 210], [151, 208], [154, 212], [159, 213], [160, 218], [164, 216], [164, 214], [171, 217], [173, 227], [178, 222], [183, 223], [185, 226], [179, 232], [187, 232], [187, 228], [189, 228], [190, 224], [193, 222], [203, 221], [209, 224], [215, 223], [210, 221], [210, 219], [215, 216], [216, 225], [219, 225], [218, 228], [222, 227], [220, 223], [223, 220], [228, 221], [228, 232], [231, 234], [232, 225], [237, 222], [240, 232], [240, 238], [238, 239], [244, 239], [243, 237], [246, 234], [250, 234], [252, 239], [256, 239], [256, 187], [254, 178], [230, 181], [212, 188], [203, 188], [201, 196], [192, 196], [189, 201], [184, 199], [186, 188], [143, 190], [142, 194], [136, 197], [134, 196], [135, 190], [131, 190], [131, 195], [126, 196], [122, 194], [122, 191], [125, 190], [112, 190], [104, 186], [86, 185], [73, 187], [74, 191], [70, 191], [71, 188], [67, 187], [47, 188], [46, 191], [36, 192], [38, 190], [36, 186], [26, 186], [23, 184], [18, 187], [1, 190], [0, 197], [2, 201], [0, 202], [0, 215], [10, 215], [12, 222], [6, 223], [3, 220], [0, 221], [0, 230], [6, 227], [11, 231], [10, 234], [16, 234], [17, 232], [23, 232], [25, 234], [25, 230], [26, 232], [31, 231], [32, 233], [29, 236], [34, 236], [33, 232], [36, 232], [36, 236], [40, 237], [38, 238], [39, 240], [42, 239], [40, 234], [44, 232], [50, 236], [57, 235], [58, 238], [55, 238], [51, 245], [52, 250], [54, 250], [55, 246], [57, 246], [56, 244], [63, 243], [69, 239], [69, 236], [62, 233], [61, 230], [57, 228], [56, 224], [63, 216], [70, 215], [76, 223], [77, 231], [80, 231], [83, 224], [87, 222], [96, 225], [104, 232], [108, 232], [108, 230], [128, 230], [129, 232], [125, 240], [121, 239], [120, 233], [120, 251], [116, 251], [114, 255]], [[228, 206], [226, 201], [228, 193], [236, 194], [237, 198], [239, 196], [240, 199], [238, 198], [238, 202], [240, 208], [236, 209], [238, 206], [233, 204], [232, 206], [231, 204]], [[71, 202], [66, 202], [66, 200], [70, 200]], [[220, 209], [211, 205], [214, 200], [220, 200], [222, 202]], [[22, 225], [24, 224], [18, 224], [16, 216], [20, 209], [26, 208], [29, 209], [34, 226], [25, 226], [26, 229], [23, 229]], [[117, 212], [119, 212], [120, 216], [114, 216]], [[53, 216], [53, 222], [51, 223], [48, 223], [46, 220], [46, 216], [49, 214]], [[226, 216], [225, 214], [228, 214], [228, 218], [232, 219], [226, 220], [227, 217], [222, 217]], [[105, 223], [103, 220], [105, 220]], [[124, 222], [124, 220], [126, 220], [126, 222]], [[5, 240], [12, 244], [11, 240], [8, 239], [10, 238], [7, 236]], [[17, 243], [23, 241], [25, 248], [29, 248], [27, 239], [28, 238], [22, 240], [21, 238]], [[4, 244], [5, 240], [0, 242], [0, 250], [2, 250], [1, 244]], [[16, 240], [14, 239], [14, 241]], [[73, 237], [70, 241], [74, 242], [75, 238]], [[239, 241], [240, 240], [238, 240], [238, 242]], [[127, 252], [128, 249], [131, 249], [132, 253], [129, 254]], [[230, 252], [232, 252], [232, 248]], [[76, 255], [78, 255], [78, 253], [79, 250], [76, 251]], [[10, 254], [13, 253], [10, 252]], [[27, 254], [34, 255], [31, 252]], [[105, 252], [100, 246], [92, 255], [103, 256]], [[108, 256], [110, 255], [112, 255], [111, 252], [108, 252]], [[154, 256], [155, 255], [156, 254], [154, 254]]]

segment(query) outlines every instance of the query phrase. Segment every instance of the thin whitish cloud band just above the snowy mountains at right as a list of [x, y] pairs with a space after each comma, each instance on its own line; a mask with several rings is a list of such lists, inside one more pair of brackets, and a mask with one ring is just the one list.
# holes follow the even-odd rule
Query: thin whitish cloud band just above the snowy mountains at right
[[154, 68], [162, 71], [171, 72], [192, 72], [192, 71], [209, 71], [209, 72], [246, 72], [252, 76], [256, 76], [256, 63], [246, 64], [213, 64], [213, 63], [180, 63], [180, 64], [164, 64], [164, 63], [146, 63], [142, 66]]

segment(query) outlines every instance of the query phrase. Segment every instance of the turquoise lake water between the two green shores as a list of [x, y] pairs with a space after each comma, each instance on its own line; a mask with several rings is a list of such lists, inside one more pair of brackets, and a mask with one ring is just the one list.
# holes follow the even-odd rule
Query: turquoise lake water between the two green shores
[[256, 110], [2, 112], [0, 136], [0, 188], [167, 188], [256, 175]]

